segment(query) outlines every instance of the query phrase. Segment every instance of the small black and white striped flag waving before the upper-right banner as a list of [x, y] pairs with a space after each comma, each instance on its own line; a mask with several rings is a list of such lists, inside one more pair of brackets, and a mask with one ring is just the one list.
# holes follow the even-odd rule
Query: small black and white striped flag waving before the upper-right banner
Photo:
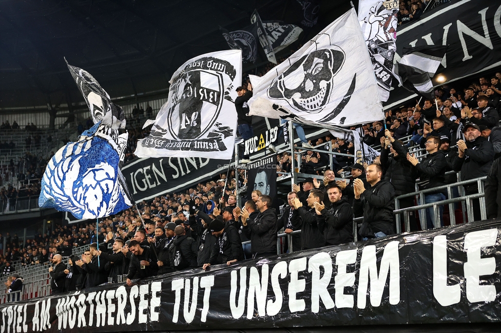
[[435, 98], [432, 77], [446, 54], [447, 46], [421, 46], [407, 50], [395, 64], [393, 75], [400, 85], [425, 98]]

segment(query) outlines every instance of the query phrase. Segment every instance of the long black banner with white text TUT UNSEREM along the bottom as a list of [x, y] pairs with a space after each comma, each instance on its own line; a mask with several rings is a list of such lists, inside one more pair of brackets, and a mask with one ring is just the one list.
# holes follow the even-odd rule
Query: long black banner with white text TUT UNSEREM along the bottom
[[2, 304], [0, 332], [498, 322], [499, 221]]

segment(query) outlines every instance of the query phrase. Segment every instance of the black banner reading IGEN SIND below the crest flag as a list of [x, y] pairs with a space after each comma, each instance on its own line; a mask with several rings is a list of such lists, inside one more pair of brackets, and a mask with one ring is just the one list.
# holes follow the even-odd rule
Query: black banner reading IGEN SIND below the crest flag
[[201, 157], [141, 158], [124, 164], [122, 173], [136, 202], [171, 194], [226, 172], [228, 160]]

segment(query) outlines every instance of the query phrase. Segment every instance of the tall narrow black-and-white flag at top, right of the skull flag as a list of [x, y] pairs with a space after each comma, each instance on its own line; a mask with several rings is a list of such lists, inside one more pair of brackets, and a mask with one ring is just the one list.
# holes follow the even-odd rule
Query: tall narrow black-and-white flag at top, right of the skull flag
[[397, 50], [397, 0], [360, 0], [358, 17], [371, 54], [381, 101], [390, 97], [393, 57]]

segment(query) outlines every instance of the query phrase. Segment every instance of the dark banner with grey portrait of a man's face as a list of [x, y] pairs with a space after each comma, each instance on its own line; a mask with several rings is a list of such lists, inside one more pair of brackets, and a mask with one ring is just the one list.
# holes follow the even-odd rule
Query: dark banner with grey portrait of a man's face
[[255, 190], [272, 198], [277, 196], [277, 155], [247, 164], [247, 198], [250, 199]]

